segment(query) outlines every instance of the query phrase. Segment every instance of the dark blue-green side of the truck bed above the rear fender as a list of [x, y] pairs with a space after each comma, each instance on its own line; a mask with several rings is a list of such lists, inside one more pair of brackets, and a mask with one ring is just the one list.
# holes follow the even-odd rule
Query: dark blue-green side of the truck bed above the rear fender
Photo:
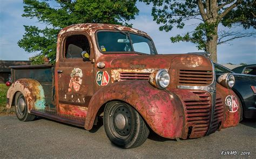
[[46, 106], [53, 109], [54, 101], [54, 69], [52, 64], [38, 64], [27, 66], [10, 66], [11, 68], [11, 82], [14, 83], [17, 79], [31, 78], [35, 79], [44, 89]]

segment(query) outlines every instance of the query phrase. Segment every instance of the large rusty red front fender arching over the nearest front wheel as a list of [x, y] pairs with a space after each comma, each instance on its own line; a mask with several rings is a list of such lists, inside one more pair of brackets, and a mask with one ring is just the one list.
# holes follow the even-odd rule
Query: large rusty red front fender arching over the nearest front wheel
[[85, 129], [91, 129], [101, 106], [111, 100], [129, 103], [151, 129], [165, 138], [184, 137], [184, 109], [176, 94], [159, 90], [147, 81], [121, 81], [98, 90], [91, 98]]

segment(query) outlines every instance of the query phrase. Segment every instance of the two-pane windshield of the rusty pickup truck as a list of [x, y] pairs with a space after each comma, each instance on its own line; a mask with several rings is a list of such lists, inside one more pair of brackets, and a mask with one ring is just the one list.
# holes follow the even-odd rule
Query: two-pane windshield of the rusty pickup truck
[[155, 55], [153, 42], [138, 34], [119, 31], [100, 31], [97, 33], [98, 47], [102, 52], [137, 52]]

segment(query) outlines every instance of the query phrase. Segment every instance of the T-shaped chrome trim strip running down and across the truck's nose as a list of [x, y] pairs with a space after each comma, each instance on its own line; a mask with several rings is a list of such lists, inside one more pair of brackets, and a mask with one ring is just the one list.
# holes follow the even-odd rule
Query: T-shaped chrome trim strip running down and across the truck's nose
[[211, 97], [212, 97], [212, 112], [211, 112], [211, 119], [210, 119], [210, 125], [208, 128], [208, 131], [206, 133], [206, 135], [209, 135], [208, 133], [211, 130], [212, 127], [212, 120], [213, 120], [213, 116], [214, 116], [214, 109], [215, 109], [215, 101], [216, 101], [216, 76], [215, 76], [215, 67], [214, 64], [212, 62], [212, 60], [210, 60], [212, 63], [212, 74], [213, 74], [213, 81], [210, 85], [206, 85], [206, 86], [190, 86], [190, 85], [178, 85], [177, 88], [179, 89], [192, 89], [192, 90], [204, 90], [210, 93]]

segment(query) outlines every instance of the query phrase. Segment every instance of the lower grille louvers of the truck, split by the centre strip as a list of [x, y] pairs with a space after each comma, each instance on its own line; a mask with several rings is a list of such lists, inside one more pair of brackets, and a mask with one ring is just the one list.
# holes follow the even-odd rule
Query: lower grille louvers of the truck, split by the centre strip
[[[189, 138], [199, 138], [206, 135], [211, 119], [211, 95], [207, 92], [192, 91], [200, 100], [185, 100], [187, 127], [191, 127]], [[208, 134], [217, 131], [224, 119], [224, 104], [217, 94], [211, 129]]]

